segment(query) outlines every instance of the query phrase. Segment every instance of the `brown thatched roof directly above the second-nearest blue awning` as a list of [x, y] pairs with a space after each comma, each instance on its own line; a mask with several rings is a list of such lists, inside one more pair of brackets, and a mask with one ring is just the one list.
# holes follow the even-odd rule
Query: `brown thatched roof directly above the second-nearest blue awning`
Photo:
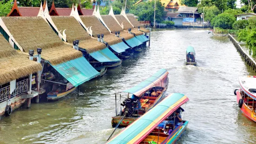
[[98, 42], [97, 39], [92, 39], [74, 17], [52, 16], [51, 18], [59, 31], [66, 29], [68, 43], [73, 43], [73, 40], [80, 40], [79, 47], [84, 48], [88, 53], [102, 50], [106, 47], [105, 44]]

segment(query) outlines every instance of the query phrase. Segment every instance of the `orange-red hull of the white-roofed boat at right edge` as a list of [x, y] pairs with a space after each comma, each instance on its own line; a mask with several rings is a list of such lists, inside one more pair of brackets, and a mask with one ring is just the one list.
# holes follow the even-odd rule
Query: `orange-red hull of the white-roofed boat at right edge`
[[[241, 91], [236, 91], [236, 101], [237, 104], [239, 103], [239, 100], [242, 98], [241, 96]], [[251, 120], [253, 120], [254, 122], [256, 122], [256, 114], [253, 110], [251, 110], [244, 102], [243, 102], [243, 106], [240, 108], [242, 113], [250, 118]]]

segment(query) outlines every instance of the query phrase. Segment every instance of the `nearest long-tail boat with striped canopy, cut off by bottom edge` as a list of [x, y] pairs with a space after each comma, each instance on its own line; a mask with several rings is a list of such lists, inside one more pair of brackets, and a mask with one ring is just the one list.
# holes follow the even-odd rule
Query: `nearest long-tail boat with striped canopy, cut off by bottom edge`
[[[169, 124], [168, 117], [189, 101], [181, 93], [172, 93], [158, 105], [113, 137], [107, 144], [174, 144], [187, 128], [188, 121]], [[164, 128], [163, 123], [167, 123]], [[168, 133], [164, 131], [168, 131]]]

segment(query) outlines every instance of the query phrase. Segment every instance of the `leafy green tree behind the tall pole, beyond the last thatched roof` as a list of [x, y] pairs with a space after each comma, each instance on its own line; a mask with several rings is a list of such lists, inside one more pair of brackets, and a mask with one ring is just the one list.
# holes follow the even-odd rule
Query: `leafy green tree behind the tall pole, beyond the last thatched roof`
[[[138, 16], [138, 20], [150, 20], [154, 21], [154, 7], [155, 1], [141, 2], [138, 5], [131, 7], [130, 13]], [[164, 16], [164, 6], [160, 0], [156, 1], [156, 21], [161, 22]]]

